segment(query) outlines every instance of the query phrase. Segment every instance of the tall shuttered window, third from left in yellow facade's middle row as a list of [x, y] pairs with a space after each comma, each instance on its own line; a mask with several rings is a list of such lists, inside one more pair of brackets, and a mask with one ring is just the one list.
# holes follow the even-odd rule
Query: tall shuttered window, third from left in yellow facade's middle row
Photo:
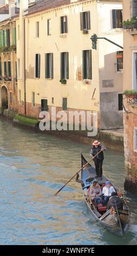
[[61, 78], [69, 79], [69, 53], [61, 52]]

